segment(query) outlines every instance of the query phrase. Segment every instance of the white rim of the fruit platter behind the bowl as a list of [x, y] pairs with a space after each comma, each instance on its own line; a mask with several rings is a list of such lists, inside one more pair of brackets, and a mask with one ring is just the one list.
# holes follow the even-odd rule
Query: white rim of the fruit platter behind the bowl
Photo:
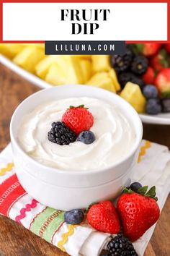
[[[14, 64], [12, 61], [4, 57], [0, 54], [0, 62], [4, 64], [6, 67], [9, 67], [9, 69], [12, 69], [12, 71], [16, 72], [17, 74], [20, 74], [22, 77], [27, 79], [28, 81], [32, 82], [33, 84], [37, 85], [40, 88], [50, 88], [53, 85], [50, 85], [48, 82], [43, 81], [39, 77], [36, 77], [34, 74], [31, 74], [30, 72], [27, 72], [26, 70], [22, 69], [21, 67], [18, 67], [16, 64]], [[143, 123], [146, 124], [170, 124], [170, 113], [168, 114], [158, 114], [155, 116], [147, 115], [147, 114], [140, 114], [140, 119], [143, 121]]]

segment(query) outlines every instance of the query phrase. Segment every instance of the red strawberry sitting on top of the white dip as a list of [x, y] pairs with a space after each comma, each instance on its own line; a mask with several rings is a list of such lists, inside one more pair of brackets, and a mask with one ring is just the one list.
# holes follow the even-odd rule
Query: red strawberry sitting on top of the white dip
[[62, 121], [65, 122], [66, 126], [69, 127], [73, 132], [79, 135], [84, 130], [89, 130], [93, 123], [94, 117], [92, 114], [81, 106], [70, 106], [62, 116]]

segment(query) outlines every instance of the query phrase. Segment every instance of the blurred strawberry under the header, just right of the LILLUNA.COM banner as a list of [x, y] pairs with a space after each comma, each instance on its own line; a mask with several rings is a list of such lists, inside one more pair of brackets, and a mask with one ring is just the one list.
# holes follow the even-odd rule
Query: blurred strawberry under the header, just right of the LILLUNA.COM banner
[[161, 45], [161, 43], [135, 43], [133, 50], [135, 54], [143, 54], [146, 57], [150, 57], [158, 52]]

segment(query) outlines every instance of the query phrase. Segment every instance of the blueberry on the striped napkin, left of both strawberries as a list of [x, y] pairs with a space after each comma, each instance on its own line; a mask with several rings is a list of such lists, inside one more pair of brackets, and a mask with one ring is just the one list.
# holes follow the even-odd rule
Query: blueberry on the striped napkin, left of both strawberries
[[80, 209], [69, 210], [64, 214], [64, 220], [68, 224], [79, 224], [84, 219], [84, 212]]

